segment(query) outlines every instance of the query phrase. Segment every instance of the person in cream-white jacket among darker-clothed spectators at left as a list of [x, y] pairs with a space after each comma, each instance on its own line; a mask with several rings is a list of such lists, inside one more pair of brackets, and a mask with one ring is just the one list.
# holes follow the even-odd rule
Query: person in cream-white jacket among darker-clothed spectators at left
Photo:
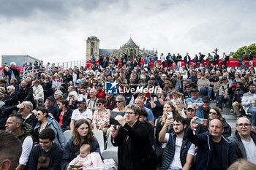
[[36, 107], [41, 106], [44, 102], [44, 90], [40, 85], [40, 80], [34, 80], [33, 96]]

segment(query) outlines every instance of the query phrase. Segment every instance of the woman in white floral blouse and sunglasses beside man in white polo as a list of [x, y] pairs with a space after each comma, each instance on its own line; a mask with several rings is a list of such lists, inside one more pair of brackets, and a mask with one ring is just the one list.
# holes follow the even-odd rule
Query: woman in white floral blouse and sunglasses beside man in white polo
[[94, 111], [94, 117], [91, 125], [94, 126], [95, 131], [103, 131], [105, 136], [108, 131], [110, 111], [109, 109], [105, 108], [104, 104], [105, 100], [103, 98], [99, 98], [99, 100], [97, 100], [96, 106], [98, 109]]

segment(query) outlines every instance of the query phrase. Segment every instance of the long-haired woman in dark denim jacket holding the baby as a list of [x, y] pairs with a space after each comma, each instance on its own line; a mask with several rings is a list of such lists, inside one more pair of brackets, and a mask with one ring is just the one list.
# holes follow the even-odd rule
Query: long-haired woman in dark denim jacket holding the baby
[[78, 154], [83, 143], [90, 144], [90, 152], [98, 152], [102, 158], [99, 150], [99, 143], [94, 138], [91, 131], [91, 125], [85, 119], [80, 119], [75, 123], [72, 137], [67, 141], [61, 160], [61, 169], [67, 169], [69, 162], [71, 162]]

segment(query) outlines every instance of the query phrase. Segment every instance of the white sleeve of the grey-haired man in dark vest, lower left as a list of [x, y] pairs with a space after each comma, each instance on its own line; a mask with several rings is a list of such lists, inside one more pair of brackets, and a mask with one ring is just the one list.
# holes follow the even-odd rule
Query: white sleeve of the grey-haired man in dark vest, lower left
[[20, 155], [19, 163], [26, 166], [29, 161], [29, 155], [33, 147], [33, 139], [31, 136], [27, 136], [22, 144], [22, 152]]

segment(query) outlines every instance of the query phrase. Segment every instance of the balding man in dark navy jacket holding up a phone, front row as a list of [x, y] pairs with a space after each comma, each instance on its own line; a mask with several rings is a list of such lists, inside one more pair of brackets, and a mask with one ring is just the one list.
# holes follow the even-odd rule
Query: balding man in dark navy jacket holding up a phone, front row
[[193, 117], [187, 131], [187, 138], [197, 146], [194, 169], [227, 169], [238, 157], [234, 144], [222, 136], [224, 127], [221, 120], [211, 120], [208, 132], [195, 134], [192, 129], [197, 128], [197, 118]]

